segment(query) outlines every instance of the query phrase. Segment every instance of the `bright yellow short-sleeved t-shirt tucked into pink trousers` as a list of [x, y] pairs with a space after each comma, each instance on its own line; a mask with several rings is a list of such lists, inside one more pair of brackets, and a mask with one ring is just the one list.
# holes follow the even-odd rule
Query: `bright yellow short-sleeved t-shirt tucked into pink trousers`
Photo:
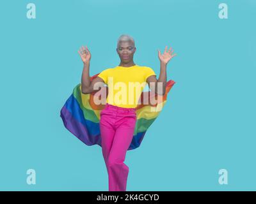
[[102, 71], [97, 77], [108, 85], [106, 103], [122, 108], [135, 108], [138, 105], [141, 92], [147, 85], [147, 78], [156, 75], [147, 66], [116, 66]]

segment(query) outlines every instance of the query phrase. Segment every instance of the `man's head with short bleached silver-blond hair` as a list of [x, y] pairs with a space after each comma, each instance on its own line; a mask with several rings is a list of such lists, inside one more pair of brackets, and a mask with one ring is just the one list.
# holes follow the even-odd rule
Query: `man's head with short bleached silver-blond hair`
[[134, 40], [127, 34], [122, 34], [118, 38], [116, 52], [118, 53], [120, 60], [125, 64], [133, 61], [133, 54], [136, 51]]

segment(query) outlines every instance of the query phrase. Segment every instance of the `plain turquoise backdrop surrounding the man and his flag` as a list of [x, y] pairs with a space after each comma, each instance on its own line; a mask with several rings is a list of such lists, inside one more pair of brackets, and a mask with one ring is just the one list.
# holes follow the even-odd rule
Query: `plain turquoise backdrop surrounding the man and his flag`
[[81, 80], [79, 47], [88, 45], [94, 75], [118, 65], [121, 34], [157, 77], [157, 48], [177, 53], [164, 111], [127, 152], [127, 191], [256, 190], [256, 1], [1, 1], [0, 10], [0, 190], [108, 191], [100, 147], [65, 129], [60, 109]]

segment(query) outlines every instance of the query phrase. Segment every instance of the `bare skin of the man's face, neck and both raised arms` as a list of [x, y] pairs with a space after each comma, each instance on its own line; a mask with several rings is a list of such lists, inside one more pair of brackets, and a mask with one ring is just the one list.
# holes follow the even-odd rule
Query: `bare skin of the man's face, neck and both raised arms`
[[[159, 95], [165, 94], [166, 88], [166, 67], [168, 62], [177, 54], [173, 54], [172, 47], [167, 50], [167, 46], [163, 54], [158, 50], [158, 57], [160, 61], [160, 75], [157, 79], [155, 75], [152, 75], [147, 78], [147, 84], [150, 87], [150, 90], [156, 92]], [[123, 66], [129, 68], [130, 66], [136, 65], [133, 61], [133, 55], [136, 52], [136, 47], [132, 41], [121, 41], [116, 48], [116, 52], [120, 57], [120, 64], [118, 66]], [[104, 85], [104, 81], [100, 77], [93, 78], [92, 82], [90, 81], [89, 68], [90, 68], [90, 59], [92, 55], [88, 50], [87, 46], [83, 46], [78, 51], [83, 63], [83, 73], [81, 78], [81, 89], [83, 94], [89, 94], [93, 91], [98, 91], [100, 87]], [[94, 89], [93, 89], [94, 87]]]

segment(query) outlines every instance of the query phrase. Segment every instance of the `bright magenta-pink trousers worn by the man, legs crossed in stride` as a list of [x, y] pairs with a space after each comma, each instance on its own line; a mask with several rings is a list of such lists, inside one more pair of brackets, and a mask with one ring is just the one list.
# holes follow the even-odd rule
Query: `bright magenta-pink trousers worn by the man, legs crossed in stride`
[[135, 108], [106, 103], [100, 112], [102, 154], [108, 170], [109, 191], [126, 191], [129, 167], [124, 161], [135, 126]]

